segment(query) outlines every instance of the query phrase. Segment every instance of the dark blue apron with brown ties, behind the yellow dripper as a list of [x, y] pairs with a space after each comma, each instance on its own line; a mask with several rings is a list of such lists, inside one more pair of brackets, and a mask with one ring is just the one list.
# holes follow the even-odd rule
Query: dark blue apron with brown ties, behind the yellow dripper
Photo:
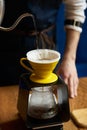
[[[30, 0], [28, 2], [29, 13], [34, 15], [37, 31], [39, 32], [39, 48], [55, 49], [56, 30], [55, 26], [54, 28], [52, 26], [55, 25], [60, 3], [61, 0]], [[30, 24], [30, 26], [31, 28], [33, 28], [32, 23]], [[45, 37], [42, 35], [42, 32], [44, 32], [43, 34], [45, 35]], [[32, 38], [30, 36], [26, 37], [26, 52], [29, 51], [29, 49], [37, 48], [36, 40], [33, 37], [33, 43], [31, 45], [31, 39]]]

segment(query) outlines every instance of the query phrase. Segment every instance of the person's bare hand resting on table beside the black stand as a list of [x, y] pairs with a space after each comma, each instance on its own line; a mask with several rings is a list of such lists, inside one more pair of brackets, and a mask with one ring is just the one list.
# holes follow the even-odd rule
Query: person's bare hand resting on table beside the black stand
[[78, 75], [75, 66], [75, 61], [73, 60], [63, 60], [61, 65], [58, 68], [58, 75], [65, 81], [68, 85], [69, 95], [71, 98], [77, 96], [77, 88], [78, 88]]

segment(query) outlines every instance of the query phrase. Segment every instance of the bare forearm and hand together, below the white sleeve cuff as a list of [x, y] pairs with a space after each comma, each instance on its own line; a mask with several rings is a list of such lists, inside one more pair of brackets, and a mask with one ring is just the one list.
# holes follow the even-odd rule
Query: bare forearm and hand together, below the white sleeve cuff
[[66, 29], [66, 44], [62, 62], [58, 68], [60, 75], [68, 86], [71, 98], [77, 96], [78, 73], [76, 70], [76, 51], [79, 43], [80, 32], [74, 29]]

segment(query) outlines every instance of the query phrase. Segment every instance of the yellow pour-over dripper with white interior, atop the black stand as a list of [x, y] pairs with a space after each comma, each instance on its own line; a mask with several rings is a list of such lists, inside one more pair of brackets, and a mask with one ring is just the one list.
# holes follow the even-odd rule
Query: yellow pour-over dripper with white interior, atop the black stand
[[[21, 65], [28, 71], [32, 71], [30, 79], [37, 83], [52, 83], [58, 79], [53, 73], [60, 60], [60, 53], [51, 49], [36, 49], [29, 51], [27, 58], [21, 58]], [[32, 70], [23, 62], [27, 60]]]

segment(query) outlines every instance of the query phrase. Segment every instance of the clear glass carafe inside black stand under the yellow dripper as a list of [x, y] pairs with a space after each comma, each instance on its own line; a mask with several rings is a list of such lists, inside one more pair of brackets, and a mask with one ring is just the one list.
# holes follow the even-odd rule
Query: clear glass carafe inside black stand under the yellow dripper
[[57, 103], [51, 86], [31, 89], [28, 100], [28, 115], [37, 119], [49, 119], [57, 114]]

